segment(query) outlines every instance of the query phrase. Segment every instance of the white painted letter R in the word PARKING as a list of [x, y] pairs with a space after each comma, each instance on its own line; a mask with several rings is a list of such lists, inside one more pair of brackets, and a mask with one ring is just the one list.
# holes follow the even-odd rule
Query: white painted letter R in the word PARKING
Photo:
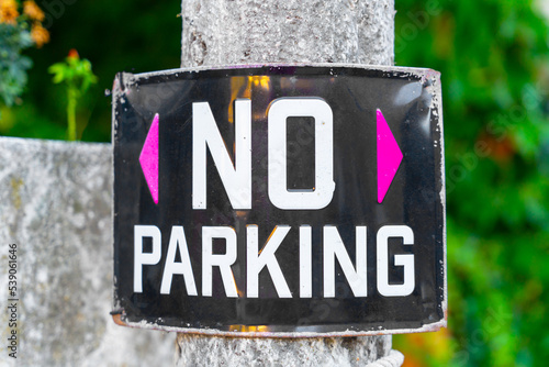
[[[213, 238], [224, 238], [226, 253], [217, 255], [212, 253]], [[219, 266], [225, 293], [227, 297], [238, 297], [235, 278], [231, 265], [236, 262], [236, 232], [229, 226], [202, 227], [202, 296], [212, 297], [213, 267]]]

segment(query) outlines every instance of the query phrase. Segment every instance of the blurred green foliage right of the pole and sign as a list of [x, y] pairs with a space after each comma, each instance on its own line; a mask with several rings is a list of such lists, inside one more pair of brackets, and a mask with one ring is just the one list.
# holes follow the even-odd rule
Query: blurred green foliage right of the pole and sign
[[396, 63], [442, 73], [449, 355], [424, 365], [549, 358], [549, 26], [534, 7], [396, 2]]

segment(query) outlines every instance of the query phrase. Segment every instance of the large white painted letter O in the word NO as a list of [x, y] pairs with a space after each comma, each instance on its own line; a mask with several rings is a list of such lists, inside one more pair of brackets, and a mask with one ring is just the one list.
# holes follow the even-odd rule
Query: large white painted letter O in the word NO
[[[288, 190], [287, 119], [314, 118], [315, 184], [311, 190]], [[320, 98], [281, 98], [272, 102], [268, 113], [269, 199], [279, 209], [322, 209], [334, 197], [334, 116]]]

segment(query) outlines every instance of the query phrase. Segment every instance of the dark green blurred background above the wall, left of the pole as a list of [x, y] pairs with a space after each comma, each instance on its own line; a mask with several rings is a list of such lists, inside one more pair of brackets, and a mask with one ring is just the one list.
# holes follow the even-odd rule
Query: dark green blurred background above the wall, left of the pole
[[[46, 1], [47, 2], [47, 1]], [[45, 5], [44, 26], [52, 38], [25, 54], [33, 60], [24, 103], [1, 108], [0, 134], [66, 140], [68, 96], [47, 73], [67, 49], [76, 48], [93, 64], [98, 82], [78, 101], [77, 136], [89, 142], [111, 140], [112, 88], [119, 71], [144, 73], [177, 68], [181, 55], [180, 1], [57, 1]], [[53, 2], [52, 2], [53, 3]], [[154, 14], [154, 16], [152, 16]], [[87, 21], [82, 21], [82, 16]], [[27, 119], [31, 119], [29, 121]]]

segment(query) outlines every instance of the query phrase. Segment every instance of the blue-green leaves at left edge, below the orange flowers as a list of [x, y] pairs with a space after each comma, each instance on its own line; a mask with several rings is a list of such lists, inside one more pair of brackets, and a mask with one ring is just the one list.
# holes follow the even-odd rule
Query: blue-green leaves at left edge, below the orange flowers
[[12, 105], [26, 85], [26, 70], [32, 60], [22, 55], [33, 45], [26, 24], [0, 23], [0, 98]]

